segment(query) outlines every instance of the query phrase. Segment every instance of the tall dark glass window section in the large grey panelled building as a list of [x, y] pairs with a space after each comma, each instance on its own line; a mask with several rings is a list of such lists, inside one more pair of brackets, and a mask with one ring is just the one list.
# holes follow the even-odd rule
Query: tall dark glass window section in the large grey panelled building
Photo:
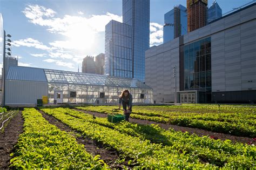
[[206, 92], [211, 98], [211, 37], [184, 46], [184, 89]]

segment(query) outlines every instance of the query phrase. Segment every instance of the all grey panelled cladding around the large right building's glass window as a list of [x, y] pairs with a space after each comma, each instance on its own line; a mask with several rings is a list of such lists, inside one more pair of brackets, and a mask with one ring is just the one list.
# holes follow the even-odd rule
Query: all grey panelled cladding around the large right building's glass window
[[184, 38], [147, 50], [145, 82], [153, 88], [154, 100], [174, 100], [172, 70], [175, 64], [179, 70], [181, 40], [186, 45], [206, 37], [211, 37], [212, 92], [256, 90], [256, 5], [252, 5], [192, 31]]

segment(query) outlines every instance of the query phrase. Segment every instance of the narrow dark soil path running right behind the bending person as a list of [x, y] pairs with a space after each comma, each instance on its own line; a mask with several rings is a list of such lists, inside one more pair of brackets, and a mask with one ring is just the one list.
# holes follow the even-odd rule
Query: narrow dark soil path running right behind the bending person
[[[100, 118], [107, 118], [107, 114], [105, 113], [98, 113], [98, 112], [90, 112], [90, 111], [84, 111], [84, 110], [78, 110], [75, 109], [76, 111], [81, 111], [84, 113], [89, 113], [91, 115], [95, 114], [96, 117]], [[211, 131], [206, 131], [206, 130], [201, 130], [199, 128], [191, 128], [191, 127], [182, 127], [182, 126], [177, 126], [177, 125], [171, 125], [171, 124], [164, 124], [164, 123], [158, 123], [155, 121], [149, 121], [149, 120], [141, 120], [141, 119], [129, 119], [131, 123], [136, 123], [136, 124], [142, 124], [142, 125], [148, 125], [148, 124], [155, 124], [159, 125], [160, 127], [164, 128], [165, 130], [169, 130], [169, 128], [173, 128], [175, 131], [187, 131], [190, 134], [197, 134], [199, 136], [203, 135], [209, 135], [212, 138], [215, 139], [220, 139], [220, 140], [226, 140], [229, 139], [233, 142], [241, 142], [241, 143], [250, 143], [256, 145], [256, 141], [254, 141], [252, 138], [247, 138], [247, 137], [237, 137], [234, 135], [230, 134], [224, 134], [224, 133], [216, 133], [216, 132], [211, 132]]]

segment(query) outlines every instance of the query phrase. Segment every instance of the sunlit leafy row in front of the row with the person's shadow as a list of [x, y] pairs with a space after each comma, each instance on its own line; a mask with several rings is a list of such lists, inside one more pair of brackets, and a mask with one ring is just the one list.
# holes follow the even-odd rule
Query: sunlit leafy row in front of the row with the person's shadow
[[[234, 158], [230, 157], [230, 159], [228, 159], [228, 156], [225, 155], [225, 153], [208, 151], [208, 148], [202, 148], [202, 151], [204, 150], [204, 152], [198, 154], [197, 152], [187, 154], [188, 151], [182, 146], [179, 146], [178, 142], [172, 147], [150, 144], [149, 140], [142, 140], [139, 137], [131, 137], [125, 133], [120, 133], [97, 124], [95, 125], [95, 133], [92, 133], [92, 130], [87, 130], [87, 127], [91, 125], [91, 122], [64, 114], [68, 110], [58, 108], [55, 110], [44, 109], [43, 111], [53, 115], [72, 128], [75, 128], [75, 130], [90, 135], [92, 138], [103, 142], [105, 145], [117, 149], [117, 151], [122, 153], [124, 158], [132, 158], [133, 163], [138, 164], [140, 168], [218, 168], [215, 165], [221, 166], [219, 163], [223, 164], [225, 160], [228, 160], [225, 167], [252, 166], [252, 158], [245, 157], [245, 155], [237, 155]], [[192, 150], [196, 151], [196, 147], [192, 148]], [[213, 153], [218, 156], [216, 157]], [[207, 159], [205, 159], [205, 157], [207, 157]], [[238, 164], [241, 159], [243, 161]], [[209, 160], [212, 161], [213, 165], [208, 164]], [[205, 161], [205, 164], [202, 164], [203, 161]]]

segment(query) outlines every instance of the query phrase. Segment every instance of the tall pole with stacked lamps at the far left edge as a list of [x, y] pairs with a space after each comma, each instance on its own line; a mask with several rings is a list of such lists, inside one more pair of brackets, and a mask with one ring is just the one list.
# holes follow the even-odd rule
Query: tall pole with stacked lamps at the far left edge
[[[5, 52], [5, 45], [11, 46], [11, 40], [10, 39], [5, 39], [5, 37], [11, 38], [11, 35], [5, 35], [5, 30], [4, 30], [4, 49], [3, 49], [3, 72], [2, 72], [2, 106], [5, 106], [5, 54], [7, 53], [9, 56], [11, 56], [10, 52]], [[5, 41], [9, 42], [5, 44]], [[7, 48], [8, 51], [11, 51], [10, 47]]]

